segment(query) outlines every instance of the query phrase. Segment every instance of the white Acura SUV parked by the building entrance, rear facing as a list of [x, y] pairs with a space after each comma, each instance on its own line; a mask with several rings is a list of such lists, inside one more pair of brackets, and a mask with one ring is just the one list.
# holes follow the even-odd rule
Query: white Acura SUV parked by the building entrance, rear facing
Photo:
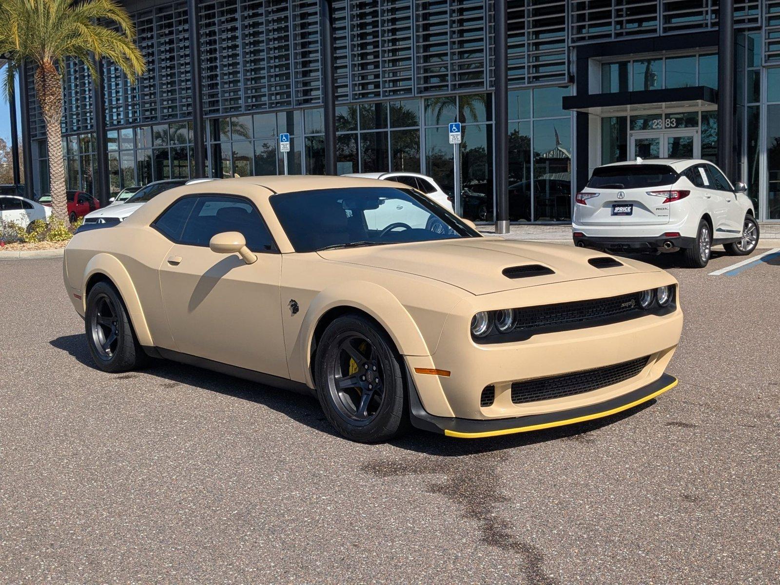
[[677, 252], [704, 268], [712, 246], [733, 256], [758, 245], [758, 223], [746, 186], [732, 186], [711, 162], [658, 158], [594, 170], [576, 194], [576, 246], [609, 252]]

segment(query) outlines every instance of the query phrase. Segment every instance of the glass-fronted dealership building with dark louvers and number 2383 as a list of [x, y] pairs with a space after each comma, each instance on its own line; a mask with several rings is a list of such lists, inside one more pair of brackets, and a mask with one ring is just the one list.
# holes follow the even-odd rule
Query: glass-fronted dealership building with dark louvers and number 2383
[[[411, 171], [484, 222], [569, 222], [592, 169], [706, 158], [780, 220], [778, 0], [125, 0], [147, 73], [67, 62], [69, 189]], [[197, 16], [197, 19], [196, 19]], [[193, 80], [199, 83], [193, 83]], [[24, 181], [48, 191], [32, 70]]]

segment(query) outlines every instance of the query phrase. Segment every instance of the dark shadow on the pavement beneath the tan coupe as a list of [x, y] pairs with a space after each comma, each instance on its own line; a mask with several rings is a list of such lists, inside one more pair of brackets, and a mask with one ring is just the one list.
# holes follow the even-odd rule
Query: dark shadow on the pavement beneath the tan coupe
[[[62, 335], [62, 337], [53, 339], [49, 343], [56, 349], [68, 352], [84, 366], [97, 371], [97, 367], [95, 367], [92, 356], [90, 356], [87, 349], [87, 342], [83, 334]], [[289, 390], [274, 388], [273, 386], [262, 385], [257, 382], [169, 360], [152, 360], [150, 367], [147, 367], [141, 373], [160, 378], [161, 392], [165, 392], [166, 389], [174, 388], [177, 385], [189, 385], [209, 392], [218, 392], [222, 395], [261, 404], [283, 414], [285, 417], [295, 420], [297, 423], [307, 425], [314, 431], [320, 431], [333, 437], [340, 437], [331, 424], [328, 423], [320, 409], [319, 402], [313, 396], [297, 394]], [[135, 378], [133, 374], [129, 374], [132, 378], [129, 378], [128, 374], [105, 375], [127, 380], [129, 384], [132, 384], [130, 380]], [[584, 445], [596, 441], [596, 438], [592, 436], [594, 431], [640, 413], [640, 411], [652, 406], [655, 402], [653, 399], [622, 413], [583, 423], [490, 438], [452, 438], [412, 428], [401, 438], [391, 441], [391, 445], [399, 449], [442, 457], [477, 455], [505, 449], [516, 449], [558, 439], [574, 441]]]

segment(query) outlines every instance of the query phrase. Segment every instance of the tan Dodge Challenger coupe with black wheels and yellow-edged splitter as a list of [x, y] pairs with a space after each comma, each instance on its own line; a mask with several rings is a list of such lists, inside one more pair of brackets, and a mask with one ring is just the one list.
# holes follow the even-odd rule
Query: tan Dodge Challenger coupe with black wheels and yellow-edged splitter
[[676, 384], [664, 373], [683, 326], [671, 275], [483, 237], [388, 181], [177, 187], [76, 234], [63, 270], [101, 370], [167, 358], [310, 392], [355, 441], [409, 424], [464, 438], [533, 431]]

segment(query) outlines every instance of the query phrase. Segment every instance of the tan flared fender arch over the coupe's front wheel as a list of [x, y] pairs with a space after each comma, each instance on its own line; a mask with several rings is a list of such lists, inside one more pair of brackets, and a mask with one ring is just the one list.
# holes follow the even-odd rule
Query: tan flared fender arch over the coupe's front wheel
[[291, 363], [300, 363], [310, 388], [314, 388], [310, 367], [314, 329], [322, 316], [336, 307], [354, 307], [371, 315], [385, 328], [402, 356], [431, 355], [412, 316], [388, 289], [374, 282], [339, 282], [318, 293], [309, 304], [294, 350], [297, 355], [291, 356]]

